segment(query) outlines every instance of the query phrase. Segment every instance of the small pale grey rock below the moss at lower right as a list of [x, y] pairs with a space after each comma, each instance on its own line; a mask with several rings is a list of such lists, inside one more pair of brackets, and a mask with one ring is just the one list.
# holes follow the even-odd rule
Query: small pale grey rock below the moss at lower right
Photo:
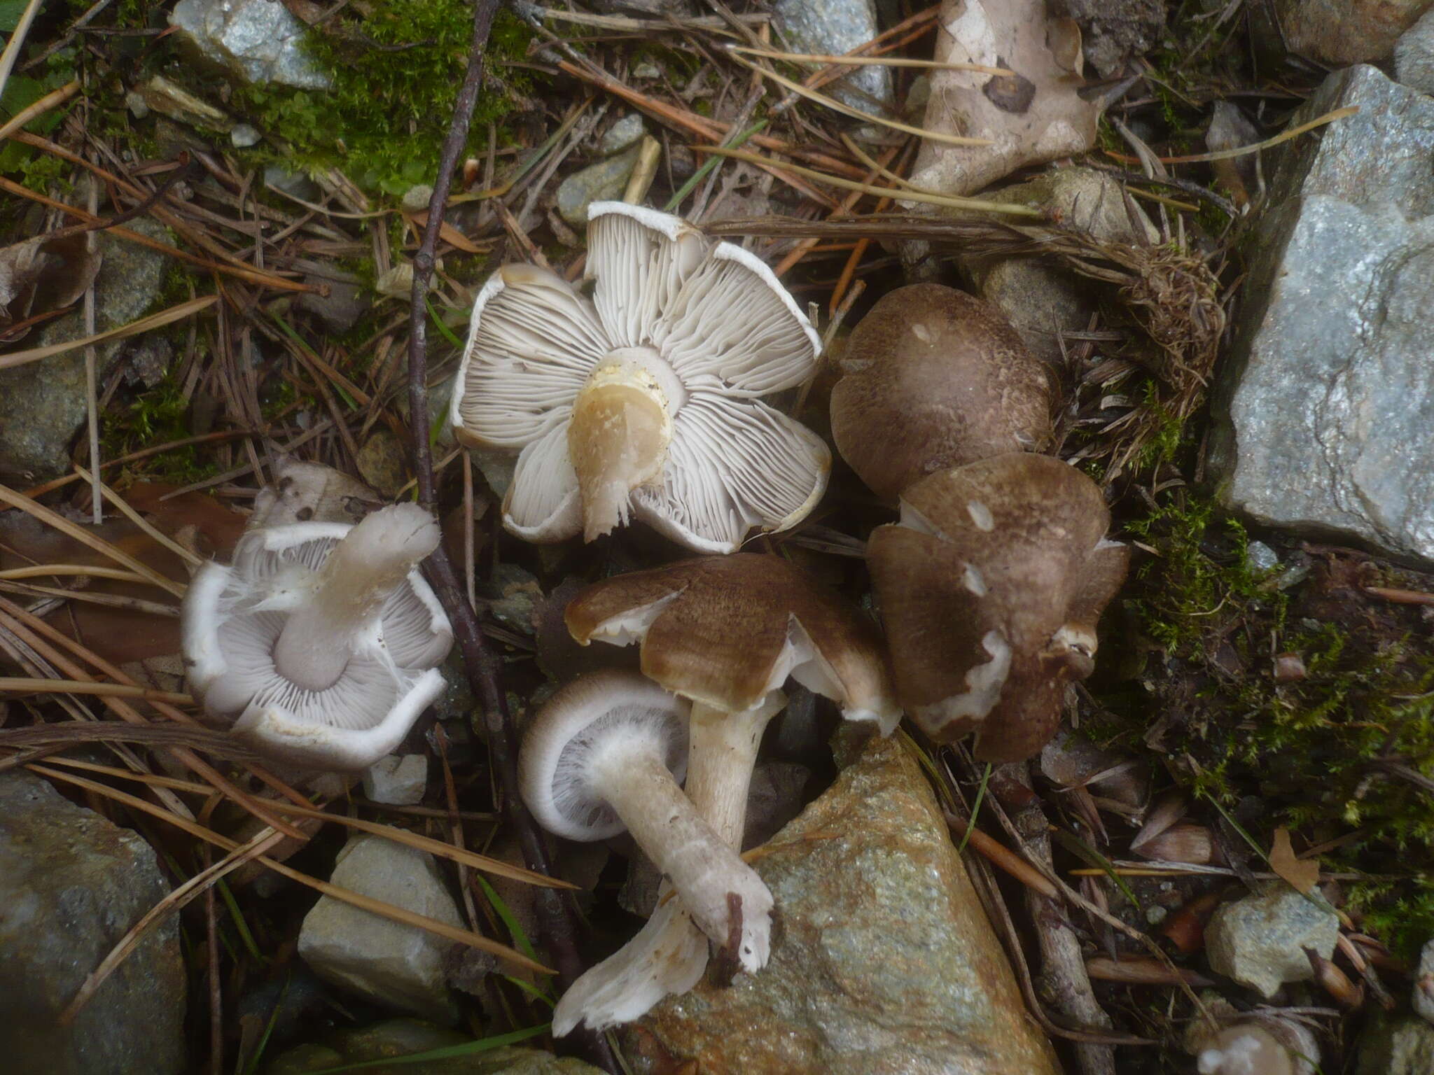
[[1316, 896], [1283, 882], [1220, 904], [1205, 930], [1210, 966], [1266, 999], [1286, 982], [1314, 978], [1305, 949], [1325, 959], [1335, 950], [1339, 916]]

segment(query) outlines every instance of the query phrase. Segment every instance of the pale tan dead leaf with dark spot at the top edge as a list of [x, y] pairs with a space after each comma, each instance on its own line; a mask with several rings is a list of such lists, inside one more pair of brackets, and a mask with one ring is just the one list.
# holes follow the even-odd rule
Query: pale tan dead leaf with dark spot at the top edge
[[[1084, 153], [1096, 145], [1100, 103], [1078, 90], [1070, 20], [1047, 20], [1045, 0], [946, 0], [935, 59], [1007, 67], [1014, 76], [941, 70], [932, 75], [928, 130], [991, 139], [949, 146], [925, 139], [913, 185], [968, 195], [1025, 165]], [[1078, 47], [1078, 37], [1076, 39]]]

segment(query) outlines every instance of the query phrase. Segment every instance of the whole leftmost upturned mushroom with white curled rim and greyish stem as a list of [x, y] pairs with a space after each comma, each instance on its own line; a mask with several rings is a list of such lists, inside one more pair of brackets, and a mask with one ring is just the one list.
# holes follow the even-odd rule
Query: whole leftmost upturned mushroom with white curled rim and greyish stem
[[417, 505], [248, 530], [185, 595], [191, 689], [277, 761], [371, 765], [443, 691], [453, 632], [416, 569], [437, 542]]

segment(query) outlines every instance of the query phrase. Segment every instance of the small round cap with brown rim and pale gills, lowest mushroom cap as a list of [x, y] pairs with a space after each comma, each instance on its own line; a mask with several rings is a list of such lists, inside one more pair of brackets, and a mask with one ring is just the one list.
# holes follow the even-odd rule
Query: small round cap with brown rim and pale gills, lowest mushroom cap
[[614, 737], [650, 744], [678, 783], [687, 773], [688, 704], [634, 672], [605, 671], [554, 694], [523, 734], [518, 784], [549, 833], [607, 840], [627, 826], [588, 784], [587, 764]]

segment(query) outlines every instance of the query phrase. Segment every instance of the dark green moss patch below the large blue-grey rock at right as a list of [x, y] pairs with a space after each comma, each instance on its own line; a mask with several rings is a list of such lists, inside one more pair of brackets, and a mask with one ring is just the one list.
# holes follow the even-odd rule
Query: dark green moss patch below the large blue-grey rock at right
[[[1364, 593], [1349, 558], [1311, 558], [1302, 582], [1255, 569], [1243, 526], [1183, 490], [1127, 529], [1159, 553], [1126, 602], [1146, 691], [1107, 704], [1137, 731], [1162, 722], [1196, 794], [1228, 810], [1256, 797], [1263, 847], [1276, 824], [1311, 843], [1355, 833], [1325, 867], [1364, 874], [1351, 906], [1417, 949], [1434, 933], [1434, 638], [1417, 609]], [[1285, 652], [1302, 678], [1275, 679]]]

